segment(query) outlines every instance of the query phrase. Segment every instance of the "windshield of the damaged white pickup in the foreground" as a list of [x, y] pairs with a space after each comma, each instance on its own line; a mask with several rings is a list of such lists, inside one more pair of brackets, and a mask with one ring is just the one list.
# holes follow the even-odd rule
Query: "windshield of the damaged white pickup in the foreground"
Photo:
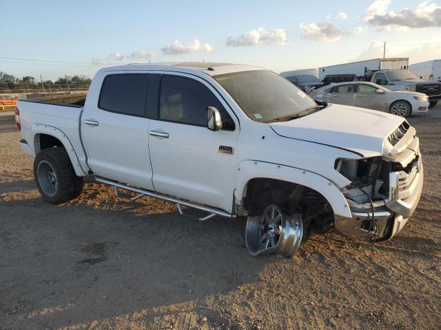
[[268, 70], [234, 72], [213, 78], [256, 122], [294, 118], [311, 112], [306, 110], [318, 108], [307, 94]]

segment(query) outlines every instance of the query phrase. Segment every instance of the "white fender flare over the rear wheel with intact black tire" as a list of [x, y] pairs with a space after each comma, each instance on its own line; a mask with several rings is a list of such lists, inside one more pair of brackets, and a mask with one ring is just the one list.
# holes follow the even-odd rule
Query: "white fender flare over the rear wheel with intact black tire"
[[34, 147], [34, 154], [37, 155], [40, 148], [40, 142], [38, 140], [39, 134], [46, 134], [51, 135], [53, 137], [57, 137], [58, 140], [61, 141], [63, 144], [65, 150], [68, 152], [70, 162], [72, 163], [72, 166], [74, 168], [75, 174], [79, 177], [84, 177], [87, 175], [85, 170], [81, 168], [81, 164], [79, 162], [78, 156], [75, 153], [74, 147], [72, 146], [72, 143], [70, 143], [70, 140], [68, 138], [68, 135], [65, 135], [63, 131], [60, 129], [57, 129], [57, 127], [46, 125], [46, 124], [32, 124], [32, 137], [33, 137], [33, 147]]

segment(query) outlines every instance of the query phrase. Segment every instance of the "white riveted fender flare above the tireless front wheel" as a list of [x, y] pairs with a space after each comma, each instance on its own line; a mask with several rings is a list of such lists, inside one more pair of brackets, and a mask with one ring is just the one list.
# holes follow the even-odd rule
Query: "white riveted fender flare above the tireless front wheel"
[[236, 200], [242, 200], [248, 181], [259, 177], [288, 181], [312, 188], [327, 199], [335, 215], [347, 218], [352, 217], [351, 209], [342, 192], [325, 177], [301, 168], [254, 160], [245, 160], [239, 164], [238, 175], [234, 185]]

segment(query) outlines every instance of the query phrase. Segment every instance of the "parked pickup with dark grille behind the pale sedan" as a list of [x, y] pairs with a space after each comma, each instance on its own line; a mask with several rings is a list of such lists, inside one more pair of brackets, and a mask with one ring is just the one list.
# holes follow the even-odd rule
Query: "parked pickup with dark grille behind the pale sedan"
[[441, 83], [418, 78], [409, 70], [379, 70], [373, 72], [371, 83], [386, 87], [391, 91], [418, 91], [429, 97], [430, 107], [441, 100]]

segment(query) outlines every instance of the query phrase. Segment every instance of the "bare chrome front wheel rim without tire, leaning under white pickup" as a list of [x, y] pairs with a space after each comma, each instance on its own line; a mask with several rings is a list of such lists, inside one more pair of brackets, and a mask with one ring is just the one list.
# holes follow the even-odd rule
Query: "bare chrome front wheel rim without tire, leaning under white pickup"
[[297, 252], [302, 236], [300, 214], [289, 217], [274, 204], [267, 206], [263, 214], [247, 219], [245, 243], [252, 256], [272, 253], [289, 257]]

